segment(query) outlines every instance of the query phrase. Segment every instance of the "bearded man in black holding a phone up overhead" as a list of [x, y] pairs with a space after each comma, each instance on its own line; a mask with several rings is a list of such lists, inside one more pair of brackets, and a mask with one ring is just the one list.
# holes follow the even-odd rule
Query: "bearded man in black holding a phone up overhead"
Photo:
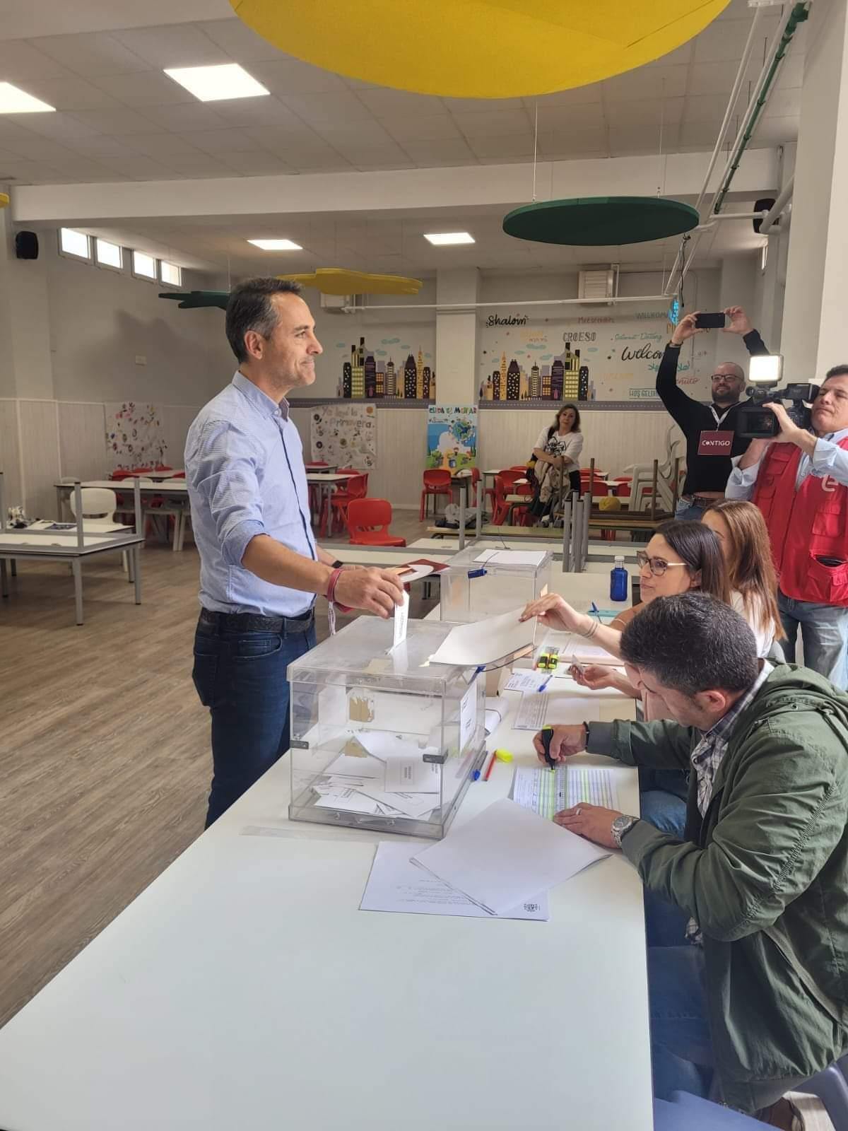
[[[752, 329], [742, 307], [725, 310], [729, 326], [725, 334], [741, 334], [752, 355], [769, 351]], [[695, 334], [698, 312], [686, 314], [674, 328], [657, 370], [657, 392], [669, 415], [686, 438], [686, 481], [677, 502], [675, 518], [698, 521], [717, 499], [724, 499], [730, 474], [730, 457], [741, 456], [749, 441], [736, 435], [736, 409], [745, 389], [745, 374], [734, 362], [717, 365], [712, 373], [712, 404], [703, 405], [677, 387], [677, 361], [681, 346]]]

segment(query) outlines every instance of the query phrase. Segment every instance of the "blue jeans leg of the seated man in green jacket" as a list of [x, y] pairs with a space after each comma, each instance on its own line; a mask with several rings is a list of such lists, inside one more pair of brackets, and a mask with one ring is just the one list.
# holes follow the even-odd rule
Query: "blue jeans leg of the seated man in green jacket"
[[701, 947], [649, 947], [648, 999], [654, 1095], [707, 1098], [713, 1059]]

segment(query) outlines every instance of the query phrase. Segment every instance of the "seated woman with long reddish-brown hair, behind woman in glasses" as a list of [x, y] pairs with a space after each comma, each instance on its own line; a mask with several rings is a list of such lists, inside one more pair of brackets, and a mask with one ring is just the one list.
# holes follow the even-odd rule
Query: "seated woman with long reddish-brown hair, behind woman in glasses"
[[704, 511], [701, 521], [721, 543], [730, 604], [751, 625], [756, 655], [765, 657], [776, 640], [786, 639], [786, 633], [777, 606], [777, 573], [762, 512], [752, 502], [725, 499]]

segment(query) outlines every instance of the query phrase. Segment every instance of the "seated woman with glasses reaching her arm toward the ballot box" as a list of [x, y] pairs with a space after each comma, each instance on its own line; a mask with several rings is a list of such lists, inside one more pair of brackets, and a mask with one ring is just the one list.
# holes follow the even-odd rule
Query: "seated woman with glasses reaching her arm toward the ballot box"
[[[656, 597], [670, 597], [690, 589], [701, 589], [726, 604], [730, 589], [721, 545], [716, 535], [702, 523], [670, 519], [661, 523], [650, 542], [637, 554], [641, 578], [642, 601], [634, 608], [622, 613], [611, 624], [576, 608], [556, 594], [548, 594], [531, 602], [521, 620], [538, 616], [547, 628], [560, 632], [577, 632], [592, 645], [599, 645], [620, 657], [621, 634], [630, 621]], [[617, 688], [638, 699], [639, 693], [626, 676], [613, 667], [594, 664], [585, 670], [572, 668], [578, 683], [591, 688]], [[646, 718], [651, 717], [650, 700], [644, 702]], [[656, 715], [654, 717], [657, 717]], [[683, 770], [639, 769], [639, 802], [641, 815], [663, 832], [680, 838], [686, 821], [686, 792], [689, 776]]]

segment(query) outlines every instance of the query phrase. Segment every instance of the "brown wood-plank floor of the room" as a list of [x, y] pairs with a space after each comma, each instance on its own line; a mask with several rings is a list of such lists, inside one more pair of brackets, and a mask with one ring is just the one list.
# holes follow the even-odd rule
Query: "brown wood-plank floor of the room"
[[[396, 511], [412, 542], [426, 523]], [[21, 562], [0, 608], [0, 1025], [200, 835], [208, 714], [191, 682], [198, 556], [148, 545], [142, 604], [118, 559]], [[427, 611], [415, 598], [410, 613]], [[327, 636], [326, 603], [318, 606]], [[832, 1131], [802, 1099], [807, 1131]]]

